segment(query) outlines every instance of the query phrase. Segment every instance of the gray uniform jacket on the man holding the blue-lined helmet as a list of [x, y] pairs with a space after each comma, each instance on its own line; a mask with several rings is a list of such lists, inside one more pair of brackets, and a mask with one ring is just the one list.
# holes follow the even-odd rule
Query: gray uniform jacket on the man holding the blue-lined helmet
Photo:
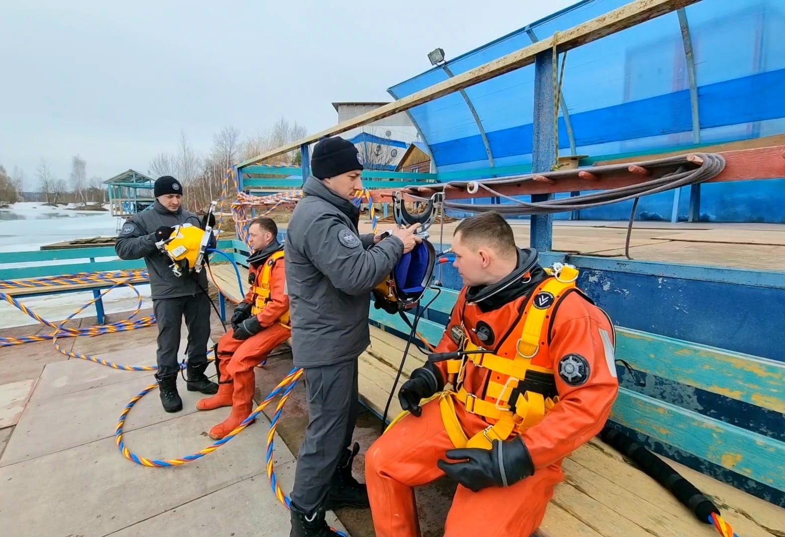
[[354, 360], [371, 342], [371, 290], [403, 255], [396, 236], [374, 245], [358, 236], [360, 209], [309, 177], [287, 227], [284, 246], [297, 367]]

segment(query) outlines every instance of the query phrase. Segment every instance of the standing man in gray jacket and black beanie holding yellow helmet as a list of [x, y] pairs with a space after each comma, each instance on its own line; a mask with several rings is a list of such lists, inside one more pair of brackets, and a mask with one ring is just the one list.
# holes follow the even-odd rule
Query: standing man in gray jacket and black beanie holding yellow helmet
[[161, 404], [167, 412], [181, 411], [183, 401], [177, 393], [177, 352], [180, 350], [180, 327], [183, 316], [188, 328], [188, 391], [217, 393], [218, 385], [206, 377], [207, 342], [210, 339], [210, 297], [207, 275], [177, 277], [170, 268], [171, 260], [155, 243], [168, 239], [174, 226], [189, 223], [204, 228], [199, 217], [181, 206], [183, 187], [177, 179], [165, 175], [155, 181], [155, 204], [148, 210], [133, 214], [122, 225], [115, 239], [120, 259], [144, 258], [150, 276], [153, 312], [158, 324], [158, 381]]

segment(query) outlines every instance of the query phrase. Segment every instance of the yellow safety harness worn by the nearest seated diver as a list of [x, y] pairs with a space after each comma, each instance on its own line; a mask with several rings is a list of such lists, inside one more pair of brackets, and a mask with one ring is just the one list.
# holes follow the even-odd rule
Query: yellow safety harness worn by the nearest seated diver
[[[547, 321], [553, 317], [559, 299], [568, 290], [575, 289], [578, 270], [564, 265], [555, 274], [550, 268], [546, 268], [546, 272], [553, 277], [546, 279], [531, 293], [526, 311], [518, 323], [520, 338], [516, 343], [516, 354], [512, 359], [492, 353], [476, 353], [466, 354], [461, 360], [447, 361], [447, 373], [457, 375], [453, 385], [458, 388], [458, 391], [446, 390], [438, 397], [444, 427], [455, 447], [491, 449], [492, 440], [506, 440], [513, 432], [523, 433], [529, 427], [539, 423], [543, 416], [558, 403], [558, 396], [554, 396], [552, 399], [543, 396], [542, 393], [530, 390], [518, 393], [514, 405], [509, 403], [509, 399], [513, 396], [513, 390], [524, 381], [528, 371], [554, 374], [553, 369], [532, 365], [531, 360], [539, 353], [547, 353], [548, 327], [550, 326]], [[553, 296], [553, 301], [547, 308], [532, 307], [535, 299], [541, 293], [550, 294]], [[501, 346], [499, 345], [499, 348]], [[463, 338], [462, 347], [462, 350], [466, 351], [482, 350], [481, 347], [474, 345], [468, 336]], [[481, 399], [473, 393], [467, 392], [463, 387], [466, 363], [469, 361], [473, 362], [476, 367], [484, 367], [507, 378], [506, 382], [500, 383], [495, 382], [493, 375], [491, 375], [485, 397], [493, 398], [495, 402]], [[460, 401], [466, 407], [466, 411], [481, 416], [490, 425], [473, 437], [467, 437], [458, 421], [458, 415], [455, 413], [455, 400]]]

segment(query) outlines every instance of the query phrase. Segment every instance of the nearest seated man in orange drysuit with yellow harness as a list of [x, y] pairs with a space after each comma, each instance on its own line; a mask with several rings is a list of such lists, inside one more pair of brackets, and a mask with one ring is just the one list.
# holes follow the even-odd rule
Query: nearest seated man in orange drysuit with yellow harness
[[420, 535], [412, 488], [445, 473], [458, 481], [446, 537], [528, 537], [619, 390], [612, 323], [575, 268], [551, 276], [495, 213], [462, 221], [453, 250], [466, 287], [436, 348], [452, 354], [412, 371], [403, 417], [366, 454], [377, 537]]

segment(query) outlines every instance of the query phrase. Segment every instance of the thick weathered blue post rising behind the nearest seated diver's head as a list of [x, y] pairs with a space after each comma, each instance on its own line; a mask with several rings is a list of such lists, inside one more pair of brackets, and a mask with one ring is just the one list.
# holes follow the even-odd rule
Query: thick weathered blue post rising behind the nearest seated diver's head
[[[556, 163], [556, 137], [553, 131], [556, 94], [553, 91], [553, 56], [549, 50], [535, 57], [535, 122], [531, 171], [550, 171]], [[553, 194], [531, 195], [532, 202], [553, 199]], [[531, 217], [530, 244], [541, 252], [550, 251], [553, 244], [553, 214]]]

